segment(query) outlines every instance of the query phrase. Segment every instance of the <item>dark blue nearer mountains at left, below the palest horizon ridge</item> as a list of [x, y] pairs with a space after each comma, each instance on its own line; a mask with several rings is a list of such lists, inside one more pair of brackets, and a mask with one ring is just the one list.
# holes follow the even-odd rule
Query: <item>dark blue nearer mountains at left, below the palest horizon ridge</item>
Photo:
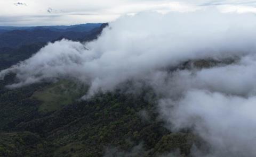
[[29, 58], [47, 42], [61, 39], [83, 42], [96, 39], [107, 25], [101, 24], [101, 27], [94, 28], [90, 32], [54, 32], [37, 29], [34, 31], [13, 30], [0, 34], [0, 70]]

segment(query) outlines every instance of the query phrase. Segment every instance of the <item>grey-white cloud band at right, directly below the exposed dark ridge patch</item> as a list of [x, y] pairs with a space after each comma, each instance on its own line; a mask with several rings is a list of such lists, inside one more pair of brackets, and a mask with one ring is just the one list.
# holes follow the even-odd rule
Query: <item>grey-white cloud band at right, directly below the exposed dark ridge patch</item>
[[[255, 56], [249, 55], [230, 65], [220, 64], [211, 68], [185, 69], [172, 73], [158, 71], [150, 77], [150, 82], [152, 86], [156, 86], [155, 90], [158, 93], [169, 93], [169, 97], [176, 97], [177, 94], [189, 89], [250, 97], [256, 92], [255, 63]], [[175, 90], [172, 93], [170, 89]]]

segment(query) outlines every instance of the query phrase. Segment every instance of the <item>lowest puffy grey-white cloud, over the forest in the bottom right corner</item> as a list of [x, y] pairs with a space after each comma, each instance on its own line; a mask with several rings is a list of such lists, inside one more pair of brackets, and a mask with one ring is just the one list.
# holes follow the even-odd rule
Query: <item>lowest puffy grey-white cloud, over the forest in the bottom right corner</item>
[[255, 96], [242, 98], [191, 90], [179, 102], [162, 101], [161, 109], [172, 121], [172, 129], [193, 128], [209, 142], [208, 156], [255, 156], [255, 102]]

